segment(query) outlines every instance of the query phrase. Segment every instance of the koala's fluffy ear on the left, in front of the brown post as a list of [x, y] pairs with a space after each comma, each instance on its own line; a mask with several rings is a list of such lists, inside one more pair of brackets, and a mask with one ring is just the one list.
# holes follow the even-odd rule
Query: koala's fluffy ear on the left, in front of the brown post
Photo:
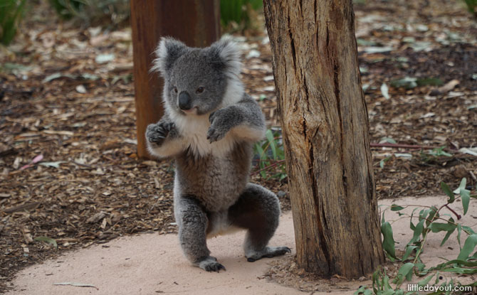
[[186, 53], [186, 51], [187, 46], [181, 41], [171, 37], [162, 37], [157, 49], [154, 51], [157, 58], [154, 60], [151, 71], [159, 70], [162, 75], [165, 75], [172, 68], [177, 58]]

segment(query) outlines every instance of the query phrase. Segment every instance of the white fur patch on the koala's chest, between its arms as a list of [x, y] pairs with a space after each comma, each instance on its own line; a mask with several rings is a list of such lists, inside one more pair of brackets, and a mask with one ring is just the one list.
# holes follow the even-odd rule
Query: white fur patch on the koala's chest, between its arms
[[207, 131], [210, 127], [208, 115], [177, 116], [174, 118], [174, 123], [179, 129], [179, 133], [182, 134], [184, 143], [189, 145], [196, 156], [213, 154], [222, 157], [234, 148], [235, 139], [231, 132], [219, 141], [212, 144], [209, 142], [207, 139]]

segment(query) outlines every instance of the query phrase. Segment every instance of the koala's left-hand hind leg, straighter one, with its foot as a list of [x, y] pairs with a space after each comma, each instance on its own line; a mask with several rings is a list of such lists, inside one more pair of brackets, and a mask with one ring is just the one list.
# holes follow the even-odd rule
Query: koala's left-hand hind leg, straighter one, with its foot
[[207, 215], [199, 202], [191, 197], [179, 197], [174, 204], [174, 215], [179, 226], [179, 242], [185, 256], [207, 272], [219, 272], [225, 267], [211, 257], [206, 245]]

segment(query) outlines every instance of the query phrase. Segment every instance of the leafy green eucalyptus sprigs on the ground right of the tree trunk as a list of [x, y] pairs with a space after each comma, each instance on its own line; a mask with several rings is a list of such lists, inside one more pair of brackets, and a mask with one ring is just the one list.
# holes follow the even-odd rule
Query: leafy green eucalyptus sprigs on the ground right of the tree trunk
[[[431, 294], [456, 294], [454, 291], [450, 291], [454, 286], [477, 286], [477, 282], [468, 285], [461, 285], [458, 281], [451, 279], [450, 281], [442, 281], [442, 277], [439, 276], [439, 272], [451, 272], [454, 274], [477, 274], [477, 252], [472, 254], [477, 247], [477, 233], [472, 230], [471, 227], [462, 225], [456, 222], [451, 215], [442, 214], [441, 209], [446, 207], [455, 215], [454, 217], [459, 220], [461, 215], [458, 215], [456, 211], [449, 207], [455, 200], [461, 199], [463, 215], [468, 212], [468, 205], [471, 198], [477, 198], [477, 195], [471, 195], [471, 191], [466, 189], [466, 178], [461, 180], [460, 186], [453, 192], [447, 186], [446, 183], [441, 182], [441, 189], [449, 196], [447, 202], [439, 207], [436, 206], [422, 206], [406, 205], [404, 207], [400, 205], [391, 205], [383, 211], [381, 220], [381, 232], [383, 235], [383, 248], [387, 257], [392, 261], [400, 260], [404, 264], [399, 268], [397, 275], [394, 278], [388, 276], [387, 272], [383, 269], [377, 269], [372, 276], [372, 288], [362, 286], [355, 294], [379, 294], [379, 295], [401, 295], [401, 294], [419, 294], [417, 291], [409, 291], [401, 289], [404, 280], [410, 281], [413, 276], [424, 277], [421, 279], [417, 286], [441, 286], [444, 291], [434, 291]], [[456, 196], [456, 195], [458, 196]], [[402, 213], [404, 208], [416, 207], [412, 211], [412, 214]], [[404, 255], [400, 258], [396, 255], [395, 242], [393, 238], [391, 223], [384, 220], [384, 212], [386, 210], [397, 211], [399, 216], [410, 218], [410, 228], [414, 233], [413, 237], [407, 243], [404, 248]], [[419, 214], [414, 216], [416, 210], [419, 210]], [[416, 223], [414, 223], [416, 219]], [[427, 237], [431, 232], [446, 232], [444, 239], [441, 241], [443, 246], [449, 237], [457, 231], [457, 241], [460, 247], [460, 252], [456, 259], [441, 263], [436, 267], [427, 268], [421, 260], [421, 253], [424, 250]], [[462, 233], [468, 235], [463, 246], [461, 245]], [[444, 287], [447, 287], [444, 288]], [[451, 293], [452, 292], [452, 293]]]

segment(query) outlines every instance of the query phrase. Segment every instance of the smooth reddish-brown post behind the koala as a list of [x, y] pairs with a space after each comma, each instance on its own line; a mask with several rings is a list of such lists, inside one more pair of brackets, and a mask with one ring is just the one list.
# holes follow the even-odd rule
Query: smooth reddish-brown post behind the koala
[[131, 0], [132, 50], [136, 102], [137, 155], [147, 158], [147, 124], [162, 108], [162, 78], [150, 73], [154, 49], [162, 36], [204, 47], [220, 36], [219, 0]]

